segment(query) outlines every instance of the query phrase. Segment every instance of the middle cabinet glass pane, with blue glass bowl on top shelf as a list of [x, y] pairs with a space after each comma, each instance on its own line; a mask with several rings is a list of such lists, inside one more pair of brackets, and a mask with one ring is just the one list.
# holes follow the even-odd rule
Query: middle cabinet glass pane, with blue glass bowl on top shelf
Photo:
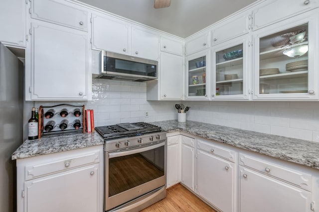
[[243, 44], [216, 52], [216, 95], [243, 94]]

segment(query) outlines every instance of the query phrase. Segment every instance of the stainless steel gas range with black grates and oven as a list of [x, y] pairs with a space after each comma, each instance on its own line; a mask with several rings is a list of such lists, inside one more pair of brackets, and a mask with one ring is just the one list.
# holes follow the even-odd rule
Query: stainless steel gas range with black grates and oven
[[166, 132], [145, 123], [95, 127], [105, 139], [108, 212], [139, 212], [166, 197]]

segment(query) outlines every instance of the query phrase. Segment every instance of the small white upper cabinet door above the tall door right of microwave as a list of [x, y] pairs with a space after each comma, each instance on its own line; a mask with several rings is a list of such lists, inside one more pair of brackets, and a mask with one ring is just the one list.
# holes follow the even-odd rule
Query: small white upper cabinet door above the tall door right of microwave
[[160, 36], [160, 51], [183, 56], [183, 46], [181, 40]]

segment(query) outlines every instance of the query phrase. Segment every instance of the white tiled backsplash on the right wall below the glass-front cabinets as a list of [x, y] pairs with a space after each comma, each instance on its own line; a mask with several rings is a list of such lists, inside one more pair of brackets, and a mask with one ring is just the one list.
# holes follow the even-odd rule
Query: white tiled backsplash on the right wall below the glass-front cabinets
[[319, 142], [319, 102], [185, 102], [186, 119]]

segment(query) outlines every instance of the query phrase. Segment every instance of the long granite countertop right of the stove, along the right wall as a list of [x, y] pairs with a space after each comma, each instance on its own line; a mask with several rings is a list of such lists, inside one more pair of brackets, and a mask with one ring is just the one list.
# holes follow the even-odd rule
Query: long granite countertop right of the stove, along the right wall
[[319, 169], [319, 143], [197, 121], [157, 121], [167, 132], [182, 131], [242, 149]]

